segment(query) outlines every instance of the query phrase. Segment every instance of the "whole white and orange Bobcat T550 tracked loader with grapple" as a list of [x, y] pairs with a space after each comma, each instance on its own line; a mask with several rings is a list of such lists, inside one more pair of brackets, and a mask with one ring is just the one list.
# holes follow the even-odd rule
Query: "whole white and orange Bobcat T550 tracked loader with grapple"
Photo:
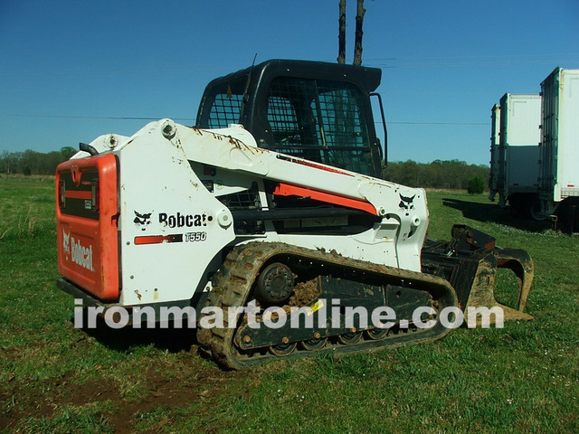
[[[432, 341], [480, 323], [470, 307], [529, 319], [524, 250], [460, 225], [429, 241], [424, 190], [381, 179], [380, 79], [265, 61], [211, 81], [195, 127], [162, 119], [81, 144], [57, 169], [59, 288], [128, 324], [193, 316], [233, 369]], [[497, 268], [518, 278], [514, 308], [494, 297]]]

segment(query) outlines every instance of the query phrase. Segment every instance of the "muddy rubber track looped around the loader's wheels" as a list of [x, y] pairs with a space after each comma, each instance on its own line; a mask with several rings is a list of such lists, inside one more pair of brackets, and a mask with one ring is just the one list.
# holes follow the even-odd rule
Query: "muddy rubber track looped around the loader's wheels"
[[[321, 268], [323, 268], [323, 264], [327, 264], [350, 270], [356, 269], [356, 272], [361, 274], [370, 273], [374, 276], [382, 276], [384, 277], [384, 283], [400, 284], [405, 282], [403, 283], [404, 285], [414, 289], [423, 289], [431, 294], [432, 288], [436, 288], [436, 292], [443, 294], [441, 297], [436, 297], [439, 302], [439, 309], [448, 306], [458, 306], [454, 289], [443, 278], [356, 259], [348, 259], [324, 250], [309, 250], [279, 242], [251, 242], [233, 248], [227, 255], [223, 266], [213, 278], [214, 289], [207, 297], [205, 306], [221, 307], [223, 309], [223, 323], [226, 328], [200, 328], [197, 331], [199, 344], [222, 366], [240, 369], [268, 360], [280, 359], [280, 356], [273, 354], [253, 354], [252, 356], [240, 354], [237, 348], [233, 346], [233, 336], [237, 331], [238, 325], [228, 327], [229, 318], [227, 316], [228, 307], [243, 307], [246, 302], [251, 301], [248, 297], [251, 293], [253, 282], [258, 277], [263, 265], [268, 259], [280, 255], [290, 255], [308, 262], [316, 262], [321, 265]], [[283, 356], [283, 358], [307, 357], [324, 351], [332, 351], [337, 355], [363, 353], [402, 344], [430, 342], [440, 339], [449, 331], [437, 321], [436, 325], [426, 330], [400, 331], [392, 337], [385, 337], [380, 340], [360, 340], [357, 344], [337, 344], [331, 342], [330, 339], [327, 341], [326, 346], [320, 350], [306, 351], [297, 349], [293, 354]]]

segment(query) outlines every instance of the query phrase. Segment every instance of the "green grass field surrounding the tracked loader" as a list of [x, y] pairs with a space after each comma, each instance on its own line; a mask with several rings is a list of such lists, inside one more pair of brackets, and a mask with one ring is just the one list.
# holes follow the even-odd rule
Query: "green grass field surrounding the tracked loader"
[[191, 331], [75, 329], [72, 299], [55, 287], [53, 179], [0, 177], [0, 429], [579, 432], [579, 240], [513, 220], [482, 195], [428, 198], [431, 238], [466, 222], [530, 252], [535, 320], [225, 372]]

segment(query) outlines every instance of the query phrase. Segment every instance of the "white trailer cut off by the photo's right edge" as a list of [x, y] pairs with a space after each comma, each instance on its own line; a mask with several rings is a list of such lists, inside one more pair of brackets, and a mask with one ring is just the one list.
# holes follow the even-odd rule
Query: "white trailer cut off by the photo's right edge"
[[542, 211], [573, 231], [573, 222], [579, 228], [579, 70], [555, 68], [541, 83], [541, 94]]

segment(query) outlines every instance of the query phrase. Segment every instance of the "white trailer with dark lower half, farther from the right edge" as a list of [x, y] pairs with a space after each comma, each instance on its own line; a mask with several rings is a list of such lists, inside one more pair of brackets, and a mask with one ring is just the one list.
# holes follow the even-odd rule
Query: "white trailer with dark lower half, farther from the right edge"
[[518, 214], [538, 218], [541, 97], [506, 93], [492, 119], [490, 199], [498, 193], [501, 206], [508, 202]]

